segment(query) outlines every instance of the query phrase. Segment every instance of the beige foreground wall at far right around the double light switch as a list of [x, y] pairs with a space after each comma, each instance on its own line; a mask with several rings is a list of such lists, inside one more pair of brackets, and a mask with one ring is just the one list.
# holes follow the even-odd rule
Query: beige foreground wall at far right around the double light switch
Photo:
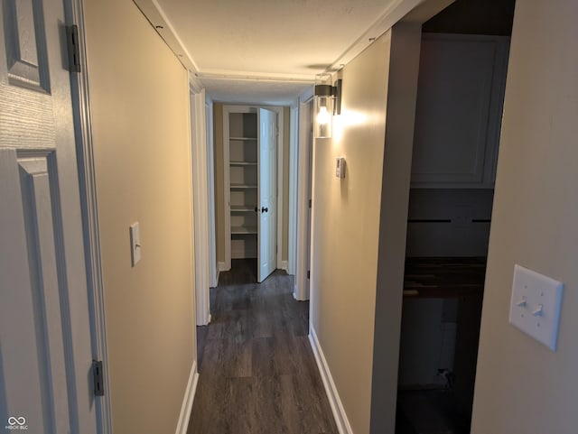
[[[578, 5], [517, 0], [489, 236], [474, 434], [578, 427]], [[558, 349], [508, 324], [514, 264], [564, 282]]]

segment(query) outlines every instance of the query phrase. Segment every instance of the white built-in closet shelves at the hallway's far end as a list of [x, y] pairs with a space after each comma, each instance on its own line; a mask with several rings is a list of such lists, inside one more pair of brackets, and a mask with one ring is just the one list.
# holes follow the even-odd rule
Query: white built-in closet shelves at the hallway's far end
[[[225, 186], [228, 191], [230, 257], [257, 257], [257, 112], [252, 107], [223, 107]], [[228, 176], [227, 176], [228, 175]], [[228, 217], [228, 218], [227, 218]]]

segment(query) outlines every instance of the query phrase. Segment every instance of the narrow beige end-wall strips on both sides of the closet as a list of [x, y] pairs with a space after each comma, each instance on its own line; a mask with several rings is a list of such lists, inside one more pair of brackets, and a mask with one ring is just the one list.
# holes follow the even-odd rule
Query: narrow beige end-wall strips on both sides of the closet
[[[282, 215], [282, 252], [281, 259], [289, 257], [289, 146], [291, 108], [283, 107], [283, 215]], [[225, 185], [223, 183], [223, 104], [213, 105], [214, 157], [215, 157], [215, 232], [217, 243], [217, 262], [225, 262]]]

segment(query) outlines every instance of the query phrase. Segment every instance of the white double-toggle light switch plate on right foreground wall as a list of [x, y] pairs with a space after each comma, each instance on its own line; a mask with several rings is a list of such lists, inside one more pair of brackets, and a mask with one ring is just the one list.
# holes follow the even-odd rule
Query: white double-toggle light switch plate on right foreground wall
[[556, 349], [564, 283], [515, 265], [509, 322], [552, 351]]

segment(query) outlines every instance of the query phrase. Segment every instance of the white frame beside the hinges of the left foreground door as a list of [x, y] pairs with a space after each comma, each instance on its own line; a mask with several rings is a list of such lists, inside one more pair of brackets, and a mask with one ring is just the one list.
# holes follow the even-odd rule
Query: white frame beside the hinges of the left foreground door
[[72, 110], [75, 113], [77, 160], [79, 165], [80, 208], [89, 290], [92, 354], [103, 363], [104, 396], [94, 397], [100, 434], [112, 434], [110, 383], [108, 380], [107, 319], [105, 312], [104, 282], [102, 277], [100, 230], [98, 226], [98, 199], [90, 113], [89, 74], [86, 57], [86, 35], [82, 0], [70, 0], [67, 21], [79, 27], [80, 72], [70, 74]]

